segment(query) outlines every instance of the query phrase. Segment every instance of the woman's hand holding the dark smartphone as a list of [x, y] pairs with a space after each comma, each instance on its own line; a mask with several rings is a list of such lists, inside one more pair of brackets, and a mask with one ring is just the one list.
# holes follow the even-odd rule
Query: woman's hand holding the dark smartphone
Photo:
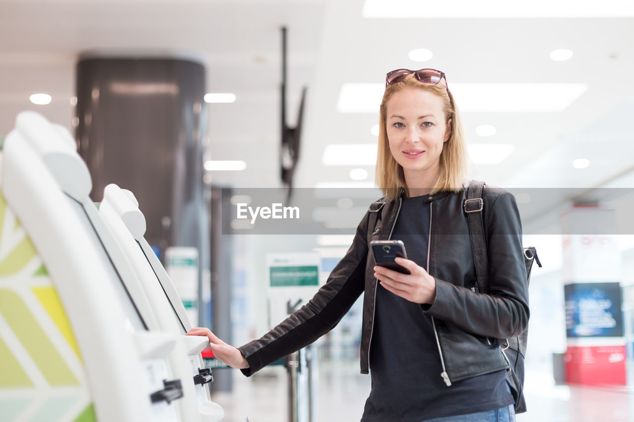
[[436, 298], [436, 279], [416, 262], [396, 258], [396, 264], [410, 270], [410, 274], [403, 274], [385, 267], [374, 267], [374, 276], [381, 286], [395, 295], [416, 304], [432, 304]]

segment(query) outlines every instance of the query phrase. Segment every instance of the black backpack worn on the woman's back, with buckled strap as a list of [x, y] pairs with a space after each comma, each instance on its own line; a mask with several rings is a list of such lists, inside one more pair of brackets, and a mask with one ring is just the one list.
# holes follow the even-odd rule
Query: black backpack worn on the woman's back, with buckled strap
[[[484, 222], [482, 222], [482, 188], [484, 182], [471, 181], [467, 188], [467, 200], [463, 205], [467, 220], [469, 220], [469, 235], [474, 253], [475, 274], [481, 291], [488, 293], [489, 271], [486, 252], [486, 234], [484, 234]], [[540, 259], [533, 246], [524, 248], [524, 263], [526, 264], [526, 284], [531, 279], [533, 262], [541, 267]], [[526, 400], [524, 400], [524, 356], [526, 355], [526, 342], [528, 340], [528, 328], [519, 336], [501, 340], [504, 342], [502, 353], [508, 362], [508, 380], [511, 384], [511, 393], [515, 400], [515, 413], [526, 412]]]

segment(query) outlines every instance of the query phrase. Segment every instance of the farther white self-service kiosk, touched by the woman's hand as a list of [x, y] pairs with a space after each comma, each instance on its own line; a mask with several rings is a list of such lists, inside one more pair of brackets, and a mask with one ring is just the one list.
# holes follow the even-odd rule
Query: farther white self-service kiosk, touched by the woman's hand
[[167, 272], [143, 237], [146, 222], [139, 210], [138, 201], [131, 191], [109, 184], [104, 190], [99, 212], [133, 263], [141, 284], [151, 298], [150, 302], [161, 328], [181, 336], [184, 343], [190, 345], [188, 359], [191, 376], [195, 379], [198, 409], [207, 417], [205, 420], [219, 421], [224, 411], [209, 400], [209, 390], [205, 388], [205, 384], [212, 380], [212, 374], [209, 368], [204, 367], [200, 355], [208, 344], [207, 338], [205, 337], [204, 343], [200, 343], [193, 340], [198, 336], [185, 335], [191, 329], [191, 322]]

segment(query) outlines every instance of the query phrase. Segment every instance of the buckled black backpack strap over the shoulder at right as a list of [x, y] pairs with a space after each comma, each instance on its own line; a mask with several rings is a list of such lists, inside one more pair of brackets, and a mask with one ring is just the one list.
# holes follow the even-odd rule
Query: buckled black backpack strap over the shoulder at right
[[474, 254], [475, 278], [481, 293], [489, 291], [489, 259], [486, 252], [486, 236], [484, 235], [484, 222], [482, 221], [482, 188], [484, 182], [472, 180], [467, 188], [467, 199], [463, 203], [467, 220], [469, 221], [469, 237]]

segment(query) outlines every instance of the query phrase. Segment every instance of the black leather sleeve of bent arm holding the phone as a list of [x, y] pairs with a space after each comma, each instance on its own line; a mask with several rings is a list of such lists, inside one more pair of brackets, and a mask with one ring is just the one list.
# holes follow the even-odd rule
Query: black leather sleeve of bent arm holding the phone
[[436, 278], [436, 298], [424, 309], [475, 335], [517, 336], [528, 325], [529, 309], [522, 226], [514, 196], [501, 191], [494, 197], [484, 224], [488, 240], [489, 294], [475, 293]]

